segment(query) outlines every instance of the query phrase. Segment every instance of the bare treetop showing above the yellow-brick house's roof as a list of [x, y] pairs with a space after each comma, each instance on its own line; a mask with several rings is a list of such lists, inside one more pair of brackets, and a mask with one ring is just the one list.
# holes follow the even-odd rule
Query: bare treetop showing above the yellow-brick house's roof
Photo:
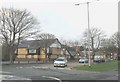
[[41, 33], [35, 36], [36, 40], [44, 40], [44, 39], [55, 39], [55, 35], [50, 34], [50, 33]]

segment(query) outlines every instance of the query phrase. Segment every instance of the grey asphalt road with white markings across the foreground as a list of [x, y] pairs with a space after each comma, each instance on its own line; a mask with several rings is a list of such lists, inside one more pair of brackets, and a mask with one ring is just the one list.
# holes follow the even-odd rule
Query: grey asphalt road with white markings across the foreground
[[[13, 64], [2, 65], [2, 74], [9, 75], [3, 79], [25, 80], [118, 80], [118, 71], [89, 72], [71, 69], [77, 62], [68, 63], [68, 67], [53, 67], [53, 64]], [[11, 76], [12, 75], [12, 76]]]

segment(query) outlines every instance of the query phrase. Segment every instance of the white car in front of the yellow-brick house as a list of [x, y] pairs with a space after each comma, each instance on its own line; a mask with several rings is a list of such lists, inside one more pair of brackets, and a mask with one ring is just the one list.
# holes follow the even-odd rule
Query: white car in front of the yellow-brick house
[[60, 66], [60, 67], [66, 67], [67, 66], [67, 59], [66, 58], [57, 58], [55, 61], [54, 61], [54, 67], [57, 67], [57, 66]]

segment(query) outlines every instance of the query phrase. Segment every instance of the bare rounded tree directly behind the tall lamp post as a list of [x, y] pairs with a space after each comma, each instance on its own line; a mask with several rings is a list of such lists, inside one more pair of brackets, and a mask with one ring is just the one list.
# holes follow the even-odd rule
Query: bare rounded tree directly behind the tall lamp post
[[91, 28], [90, 29], [90, 41], [88, 41], [88, 29], [85, 30], [84, 32], [84, 42], [85, 44], [88, 46], [88, 42], [90, 42], [90, 48], [93, 51], [93, 54], [95, 52], [95, 49], [98, 49], [101, 45], [101, 41], [104, 39], [105, 34], [103, 33], [103, 31], [99, 28]]

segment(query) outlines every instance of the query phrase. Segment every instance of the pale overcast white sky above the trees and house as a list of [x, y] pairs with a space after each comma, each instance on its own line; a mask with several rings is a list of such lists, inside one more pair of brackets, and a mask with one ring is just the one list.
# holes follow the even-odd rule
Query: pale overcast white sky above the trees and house
[[27, 9], [40, 22], [42, 33], [65, 40], [80, 40], [88, 28], [87, 5], [90, 3], [90, 28], [101, 28], [110, 37], [118, 31], [119, 0], [0, 0], [0, 8]]

